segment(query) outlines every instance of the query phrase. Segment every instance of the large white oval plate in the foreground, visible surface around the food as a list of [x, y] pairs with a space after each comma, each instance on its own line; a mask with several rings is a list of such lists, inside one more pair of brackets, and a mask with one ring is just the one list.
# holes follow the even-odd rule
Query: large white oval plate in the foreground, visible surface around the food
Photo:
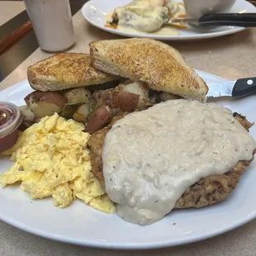
[[[209, 84], [225, 82], [208, 73], [200, 74]], [[23, 97], [29, 92], [31, 88], [23, 81], [0, 92], [0, 101], [24, 105]], [[256, 121], [255, 102], [256, 95], [220, 103]], [[256, 127], [251, 134], [256, 138]], [[0, 158], [0, 173], [11, 165], [9, 159]], [[1, 187], [0, 219], [35, 235], [72, 244], [113, 249], [161, 248], [206, 239], [253, 220], [255, 180], [256, 163], [253, 163], [227, 200], [202, 209], [172, 211], [164, 220], [147, 226], [130, 224], [116, 214], [94, 210], [79, 200], [59, 209], [51, 198], [31, 201], [29, 194], [16, 186]]]

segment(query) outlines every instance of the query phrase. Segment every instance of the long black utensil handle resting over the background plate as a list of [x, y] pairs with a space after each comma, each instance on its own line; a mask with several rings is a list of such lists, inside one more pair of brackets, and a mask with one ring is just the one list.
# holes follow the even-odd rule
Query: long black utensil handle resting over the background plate
[[216, 13], [199, 18], [199, 26], [256, 26], [256, 13]]

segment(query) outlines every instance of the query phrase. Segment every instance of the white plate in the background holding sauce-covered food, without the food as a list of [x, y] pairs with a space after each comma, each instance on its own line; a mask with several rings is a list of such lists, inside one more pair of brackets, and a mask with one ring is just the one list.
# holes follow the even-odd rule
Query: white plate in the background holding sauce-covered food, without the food
[[[225, 0], [224, 0], [225, 1]], [[148, 37], [157, 40], [197, 40], [206, 39], [217, 36], [230, 35], [239, 31], [244, 31], [244, 27], [235, 26], [220, 26], [217, 28], [199, 28], [196, 26], [190, 26], [189, 29], [180, 29], [179, 36], [156, 36], [147, 35], [142, 33], [132, 33], [125, 31], [118, 31], [106, 27], [106, 13], [112, 12], [116, 7], [121, 7], [131, 2], [131, 0], [91, 0], [85, 3], [82, 7], [83, 17], [91, 23], [93, 26], [97, 26], [103, 31], [107, 31], [116, 35], [128, 36], [128, 37]], [[177, 0], [181, 2], [181, 0]], [[244, 0], [237, 0], [234, 7], [230, 9], [230, 12], [256, 12], [256, 7]]]

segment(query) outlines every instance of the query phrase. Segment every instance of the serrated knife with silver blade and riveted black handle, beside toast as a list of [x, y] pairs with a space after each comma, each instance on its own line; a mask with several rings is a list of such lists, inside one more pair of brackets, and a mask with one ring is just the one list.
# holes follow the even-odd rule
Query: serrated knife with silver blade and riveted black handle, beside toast
[[207, 84], [206, 97], [244, 97], [256, 93], [256, 77], [226, 83]]

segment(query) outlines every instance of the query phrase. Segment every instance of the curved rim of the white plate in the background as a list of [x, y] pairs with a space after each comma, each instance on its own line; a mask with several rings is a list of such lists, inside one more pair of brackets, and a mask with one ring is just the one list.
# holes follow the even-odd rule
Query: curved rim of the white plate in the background
[[[118, 35], [118, 36], [136, 37], [136, 38], [151, 38], [151, 39], [155, 39], [155, 40], [169, 40], [169, 41], [205, 40], [205, 39], [216, 38], [216, 37], [220, 37], [220, 36], [228, 36], [228, 35], [235, 34], [240, 31], [245, 31], [245, 30], [249, 29], [248, 27], [233, 27], [232, 29], [229, 29], [229, 30], [227, 29], [224, 31], [216, 31], [216, 32], [207, 33], [207, 34], [187, 35], [187, 36], [159, 36], [159, 35], [151, 36], [151, 35], [144, 35], [144, 34], [140, 34], [140, 33], [117, 31], [117, 30], [113, 30], [111, 28], [97, 25], [93, 21], [90, 21], [90, 19], [86, 15], [86, 11], [87, 11], [88, 6], [90, 4], [92, 4], [93, 1], [95, 1], [95, 0], [89, 0], [81, 8], [83, 18], [86, 21], [88, 21], [88, 23], [91, 24], [92, 26], [95, 26], [102, 31], [107, 31], [113, 35]], [[248, 4], [249, 6], [254, 7], [254, 5], [252, 3], [247, 2], [245, 0], [237, 0], [237, 1], [244, 2], [244, 4]], [[256, 7], [254, 7], [254, 10], [256, 12]]]

